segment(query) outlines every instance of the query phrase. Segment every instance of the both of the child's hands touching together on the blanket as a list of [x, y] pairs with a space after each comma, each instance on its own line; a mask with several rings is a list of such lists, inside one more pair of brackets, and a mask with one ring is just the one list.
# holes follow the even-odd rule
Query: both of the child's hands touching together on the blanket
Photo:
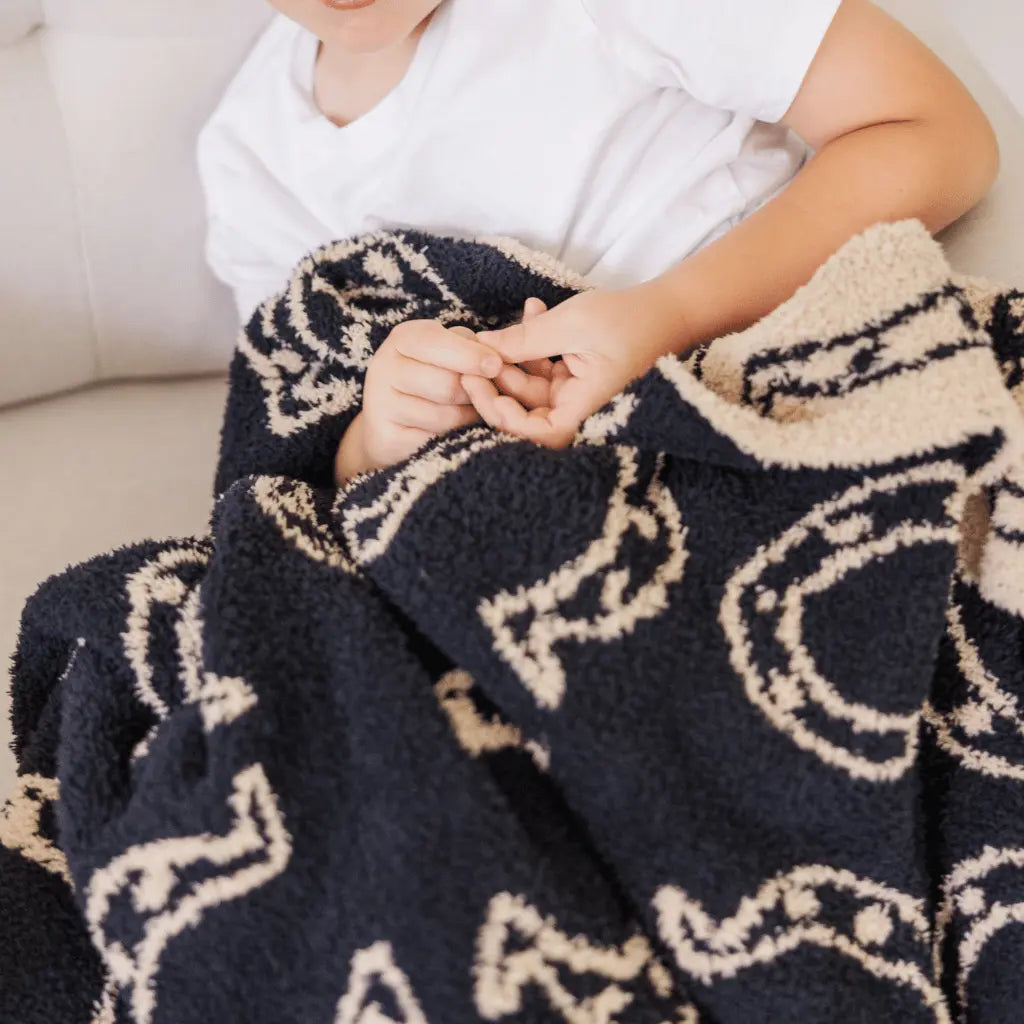
[[502, 331], [401, 324], [370, 361], [336, 478], [390, 466], [430, 437], [479, 420], [563, 447], [588, 416], [676, 346], [672, 324], [644, 286], [583, 292], [551, 310], [531, 298], [522, 321]]

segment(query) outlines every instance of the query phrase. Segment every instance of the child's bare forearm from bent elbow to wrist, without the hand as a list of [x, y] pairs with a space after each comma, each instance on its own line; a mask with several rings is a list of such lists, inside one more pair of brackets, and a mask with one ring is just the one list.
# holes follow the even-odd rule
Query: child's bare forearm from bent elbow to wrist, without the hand
[[681, 351], [749, 327], [873, 223], [916, 217], [940, 230], [984, 196], [997, 169], [984, 119], [871, 125], [824, 145], [770, 203], [640, 287], [680, 325]]

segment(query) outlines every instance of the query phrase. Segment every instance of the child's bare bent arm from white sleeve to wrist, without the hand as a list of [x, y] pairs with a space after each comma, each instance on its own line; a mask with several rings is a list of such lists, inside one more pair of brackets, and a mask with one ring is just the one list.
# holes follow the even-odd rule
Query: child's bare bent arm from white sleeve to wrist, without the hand
[[844, 242], [916, 217], [933, 233], [998, 172], [991, 125], [959, 80], [867, 0], [845, 0], [782, 122], [818, 152], [790, 186], [657, 280], [684, 346], [750, 326]]

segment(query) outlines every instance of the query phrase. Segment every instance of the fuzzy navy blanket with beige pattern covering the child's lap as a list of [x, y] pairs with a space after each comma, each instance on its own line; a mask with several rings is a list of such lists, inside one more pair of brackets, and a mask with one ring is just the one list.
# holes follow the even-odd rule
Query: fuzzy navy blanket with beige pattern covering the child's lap
[[0, 1019], [1021, 1019], [1024, 293], [878, 225], [566, 451], [332, 485], [394, 325], [580, 287], [381, 233], [253, 316], [209, 534], [26, 607]]

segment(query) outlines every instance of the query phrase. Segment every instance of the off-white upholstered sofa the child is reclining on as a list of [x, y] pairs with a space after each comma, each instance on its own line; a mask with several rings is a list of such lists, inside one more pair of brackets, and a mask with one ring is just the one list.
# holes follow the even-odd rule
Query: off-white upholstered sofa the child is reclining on
[[[933, 0], [883, 6], [999, 134], [999, 181], [944, 233], [953, 265], [1024, 282], [1024, 120]], [[0, 0], [5, 654], [46, 575], [205, 526], [237, 326], [202, 258], [194, 146], [269, 13], [260, 0]], [[4, 710], [0, 792], [13, 770]]]

